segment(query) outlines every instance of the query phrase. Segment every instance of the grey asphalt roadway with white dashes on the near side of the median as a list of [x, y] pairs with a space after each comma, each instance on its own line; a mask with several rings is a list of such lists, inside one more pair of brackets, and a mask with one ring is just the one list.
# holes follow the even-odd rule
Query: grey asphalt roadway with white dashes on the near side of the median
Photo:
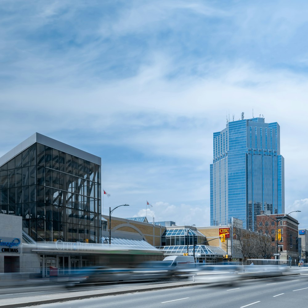
[[236, 286], [195, 285], [165, 290], [151, 290], [88, 298], [69, 302], [39, 305], [41, 308], [289, 308], [306, 307], [308, 275], [287, 276], [283, 279], [255, 279]]

